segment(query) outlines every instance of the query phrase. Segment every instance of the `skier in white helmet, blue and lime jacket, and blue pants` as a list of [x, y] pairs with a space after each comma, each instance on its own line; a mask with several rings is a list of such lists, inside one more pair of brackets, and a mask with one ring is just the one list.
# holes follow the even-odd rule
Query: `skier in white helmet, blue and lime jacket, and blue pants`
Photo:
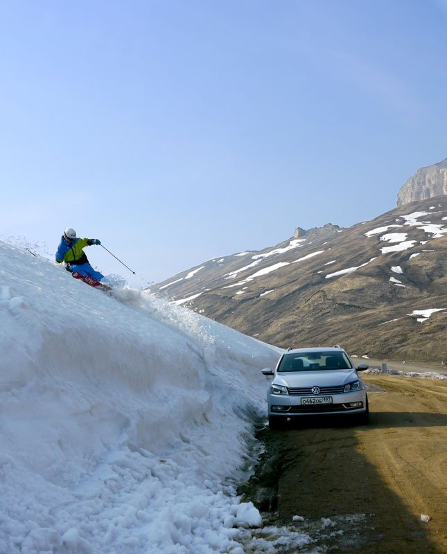
[[58, 264], [64, 262], [68, 271], [78, 271], [81, 275], [90, 276], [100, 281], [104, 278], [103, 274], [91, 267], [83, 250], [91, 244], [101, 243], [97, 238], [76, 238], [76, 231], [71, 227], [67, 227], [60, 238], [60, 244], [56, 252], [56, 262]]

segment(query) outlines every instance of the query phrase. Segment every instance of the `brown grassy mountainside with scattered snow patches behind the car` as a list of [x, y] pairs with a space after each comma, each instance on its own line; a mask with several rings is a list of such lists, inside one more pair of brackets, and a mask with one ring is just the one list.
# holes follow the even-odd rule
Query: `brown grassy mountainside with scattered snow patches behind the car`
[[447, 361], [446, 196], [301, 237], [210, 260], [151, 290], [283, 348], [341, 343]]

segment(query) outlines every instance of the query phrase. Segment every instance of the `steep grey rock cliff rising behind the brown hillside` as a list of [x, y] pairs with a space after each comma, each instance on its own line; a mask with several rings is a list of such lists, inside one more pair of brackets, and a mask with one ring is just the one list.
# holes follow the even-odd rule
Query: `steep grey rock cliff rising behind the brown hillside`
[[397, 205], [403, 206], [415, 200], [428, 200], [441, 195], [447, 195], [447, 158], [417, 170], [399, 190]]

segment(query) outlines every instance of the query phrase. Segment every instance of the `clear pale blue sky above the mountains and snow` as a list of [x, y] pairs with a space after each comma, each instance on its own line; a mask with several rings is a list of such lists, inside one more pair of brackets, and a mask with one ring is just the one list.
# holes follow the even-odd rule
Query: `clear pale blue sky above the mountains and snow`
[[447, 157], [446, 25], [443, 0], [3, 0], [0, 235], [72, 226], [150, 282], [389, 211]]

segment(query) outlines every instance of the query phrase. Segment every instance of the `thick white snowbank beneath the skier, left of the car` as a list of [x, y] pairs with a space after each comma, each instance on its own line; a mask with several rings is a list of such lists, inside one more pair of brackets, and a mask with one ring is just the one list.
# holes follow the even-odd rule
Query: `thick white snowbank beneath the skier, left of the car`
[[0, 553], [241, 554], [261, 521], [234, 479], [279, 350], [4, 242], [0, 260]]

